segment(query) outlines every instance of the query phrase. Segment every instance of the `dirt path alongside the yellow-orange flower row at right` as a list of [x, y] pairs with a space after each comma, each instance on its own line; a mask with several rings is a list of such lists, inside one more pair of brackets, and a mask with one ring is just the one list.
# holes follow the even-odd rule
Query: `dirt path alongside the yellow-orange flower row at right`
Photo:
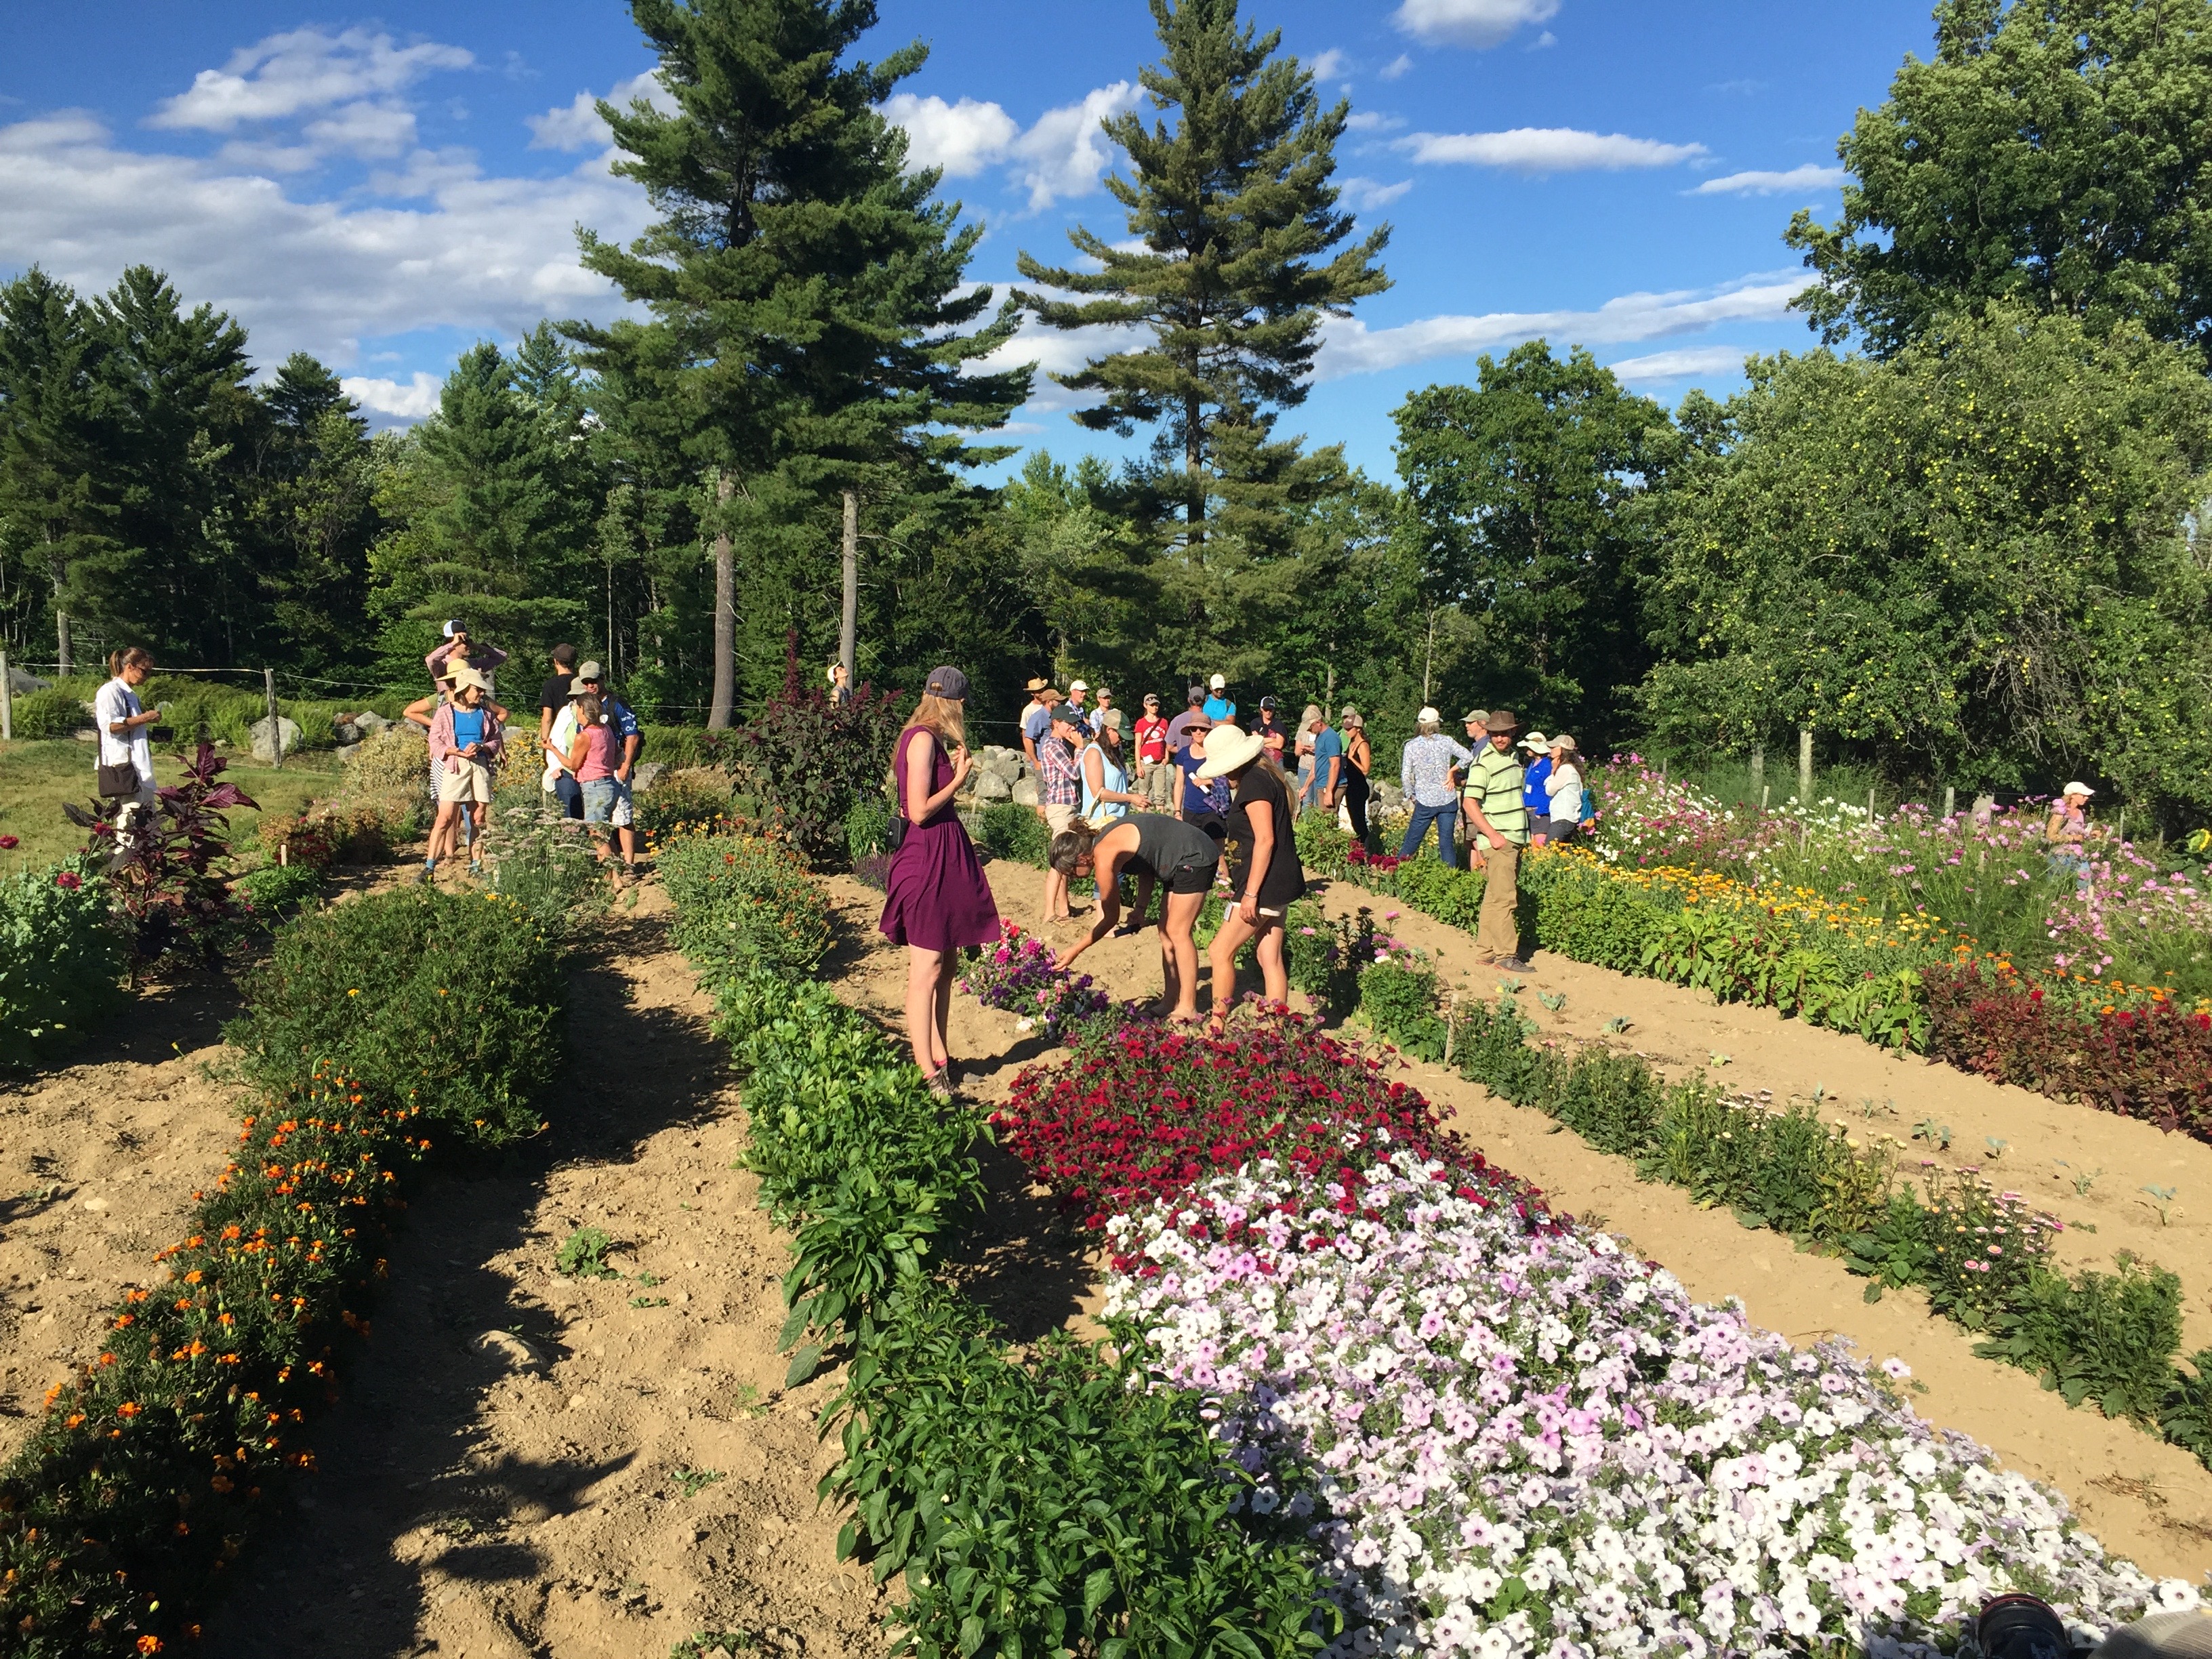
[[[1389, 927], [1427, 951], [1447, 982], [1462, 995], [1498, 995], [1498, 973], [1475, 969], [1471, 936], [1349, 883], [1332, 887], [1323, 902], [1329, 914], [1360, 905], [1376, 916], [1400, 911]], [[2119, 1250], [2170, 1267], [2183, 1287], [2183, 1352], [2212, 1347], [2212, 1146], [1938, 1062], [1896, 1057], [1772, 1009], [1721, 1006], [1699, 991], [1562, 956], [1537, 953], [1526, 987], [1522, 1011], [1551, 1035], [1632, 1048], [1668, 1077], [1703, 1066], [1728, 1088], [1772, 1091], [1776, 1104], [1820, 1091], [1823, 1117], [1860, 1137], [1896, 1137], [1907, 1166], [1933, 1159], [1980, 1168], [2066, 1223], [2055, 1254], [2068, 1267], [2110, 1270]], [[1551, 1011], [1537, 993], [1566, 1002]], [[1621, 1035], [1606, 1031], [1615, 1018], [1630, 1022]], [[1725, 1064], [1714, 1064], [1714, 1055], [1725, 1055]], [[1924, 1121], [1949, 1126], [1949, 1150], [1938, 1139], [1916, 1139]], [[1991, 1141], [2002, 1141], [2002, 1150]], [[2077, 1192], [2084, 1183], [2088, 1190]], [[2172, 1199], [2146, 1188], [2168, 1188]]]

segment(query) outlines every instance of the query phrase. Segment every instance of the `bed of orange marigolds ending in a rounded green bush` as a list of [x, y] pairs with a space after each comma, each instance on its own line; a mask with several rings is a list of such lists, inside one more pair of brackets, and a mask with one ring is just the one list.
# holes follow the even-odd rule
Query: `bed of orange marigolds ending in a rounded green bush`
[[254, 1091], [239, 1150], [159, 1254], [164, 1281], [124, 1298], [0, 1469], [0, 1655], [195, 1637], [263, 1482], [314, 1467], [305, 1425], [367, 1334], [416, 1170], [542, 1128], [557, 936], [513, 900], [409, 891], [303, 916], [246, 993], [226, 1031]]

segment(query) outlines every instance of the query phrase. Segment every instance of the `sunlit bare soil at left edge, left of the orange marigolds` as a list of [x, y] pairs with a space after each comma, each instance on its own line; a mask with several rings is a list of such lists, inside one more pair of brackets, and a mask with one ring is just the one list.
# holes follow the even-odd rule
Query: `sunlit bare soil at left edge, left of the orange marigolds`
[[0, 1091], [0, 1458], [223, 1168], [237, 1086], [206, 1073], [237, 1011], [221, 980], [144, 991], [82, 1064]]

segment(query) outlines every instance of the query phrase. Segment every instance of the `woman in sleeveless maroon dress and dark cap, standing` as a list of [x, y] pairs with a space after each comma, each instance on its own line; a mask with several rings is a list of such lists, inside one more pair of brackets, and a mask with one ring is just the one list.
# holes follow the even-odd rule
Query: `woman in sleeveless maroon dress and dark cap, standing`
[[891, 854], [883, 933], [907, 947], [907, 1040], [931, 1093], [951, 1095], [945, 1020], [962, 945], [998, 945], [998, 905], [953, 796], [967, 783], [967, 675], [929, 670], [929, 690], [891, 750], [907, 836]]

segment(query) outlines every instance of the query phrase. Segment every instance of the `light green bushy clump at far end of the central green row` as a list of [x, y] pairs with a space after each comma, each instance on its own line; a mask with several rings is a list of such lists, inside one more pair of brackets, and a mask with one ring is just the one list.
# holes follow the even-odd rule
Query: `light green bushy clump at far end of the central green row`
[[681, 836], [661, 849], [677, 949], [710, 982], [754, 967], [807, 975], [830, 953], [830, 900], [805, 860], [761, 836]]

